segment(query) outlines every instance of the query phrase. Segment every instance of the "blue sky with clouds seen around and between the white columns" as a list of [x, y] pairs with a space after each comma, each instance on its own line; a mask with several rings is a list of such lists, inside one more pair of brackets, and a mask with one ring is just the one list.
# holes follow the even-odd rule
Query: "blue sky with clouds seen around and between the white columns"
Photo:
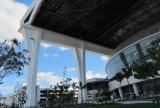
[[[21, 48], [24, 49], [23, 37], [17, 32], [19, 22], [33, 0], [0, 0], [0, 42], [5, 38], [17, 38], [21, 41]], [[86, 53], [86, 77], [105, 78], [105, 65], [107, 57]], [[58, 46], [51, 46], [41, 43], [39, 52], [39, 61], [37, 69], [37, 82], [41, 87], [49, 87], [59, 82], [62, 77], [62, 70], [67, 67], [67, 77], [72, 77], [78, 81], [76, 62], [71, 49]], [[16, 77], [10, 75], [6, 77], [0, 85], [0, 91], [3, 95], [13, 92], [17, 82], [23, 84], [27, 82], [27, 68], [23, 70], [23, 75]]]

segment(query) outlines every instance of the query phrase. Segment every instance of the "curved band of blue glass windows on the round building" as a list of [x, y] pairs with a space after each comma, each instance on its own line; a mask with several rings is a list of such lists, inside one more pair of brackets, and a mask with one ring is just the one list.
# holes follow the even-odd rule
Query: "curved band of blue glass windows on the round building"
[[[124, 53], [124, 56], [120, 57], [120, 54], [112, 58], [112, 60], [108, 63], [106, 72], [108, 78], [111, 79], [115, 76], [116, 73], [121, 72], [122, 68], [127, 68], [126, 66], [132, 66], [135, 63], [144, 63], [147, 59], [147, 51], [146, 49], [150, 47], [150, 43], [155, 40], [155, 36], [149, 39], [146, 39], [136, 45], [129, 47], [121, 53]], [[125, 59], [125, 60], [123, 60]], [[127, 65], [124, 61], [127, 61]]]

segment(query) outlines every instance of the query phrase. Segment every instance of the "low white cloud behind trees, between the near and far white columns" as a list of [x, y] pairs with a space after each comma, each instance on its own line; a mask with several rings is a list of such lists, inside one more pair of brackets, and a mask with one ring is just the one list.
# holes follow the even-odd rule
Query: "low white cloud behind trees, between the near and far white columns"
[[[71, 77], [72, 78], [72, 81], [71, 82], [78, 82], [78, 78], [74, 78], [74, 77]], [[57, 83], [59, 83], [61, 81], [61, 77], [59, 76], [54, 76], [54, 73], [53, 72], [40, 72], [37, 74], [37, 80], [39, 82], [46, 82], [46, 83], [49, 83], [49, 85], [56, 85]]]

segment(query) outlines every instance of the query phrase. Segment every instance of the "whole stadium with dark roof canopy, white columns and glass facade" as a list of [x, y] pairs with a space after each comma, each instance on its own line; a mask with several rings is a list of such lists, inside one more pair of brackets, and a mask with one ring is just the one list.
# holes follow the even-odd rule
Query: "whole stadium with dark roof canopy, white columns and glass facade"
[[[110, 91], [122, 96], [127, 82], [123, 80], [120, 89], [112, 78], [122, 67], [148, 61], [146, 48], [160, 34], [159, 21], [159, 0], [34, 0], [19, 29], [31, 58], [27, 75], [27, 88], [31, 89], [27, 89], [25, 107], [36, 107], [36, 95], [31, 91], [36, 89], [40, 42], [73, 49], [78, 80], [83, 84], [86, 84], [85, 52], [108, 56], [104, 69], [111, 80]], [[130, 78], [136, 95], [139, 82]], [[82, 95], [86, 100], [86, 89]], [[80, 91], [78, 101], [81, 102]]]

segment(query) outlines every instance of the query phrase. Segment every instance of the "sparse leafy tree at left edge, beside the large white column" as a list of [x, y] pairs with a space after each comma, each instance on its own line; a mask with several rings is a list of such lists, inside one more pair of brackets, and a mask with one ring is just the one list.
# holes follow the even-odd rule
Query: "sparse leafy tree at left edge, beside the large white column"
[[11, 74], [17, 76], [23, 74], [21, 71], [27, 64], [24, 56], [27, 50], [21, 50], [20, 44], [17, 39], [5, 40], [0, 43], [0, 81]]

